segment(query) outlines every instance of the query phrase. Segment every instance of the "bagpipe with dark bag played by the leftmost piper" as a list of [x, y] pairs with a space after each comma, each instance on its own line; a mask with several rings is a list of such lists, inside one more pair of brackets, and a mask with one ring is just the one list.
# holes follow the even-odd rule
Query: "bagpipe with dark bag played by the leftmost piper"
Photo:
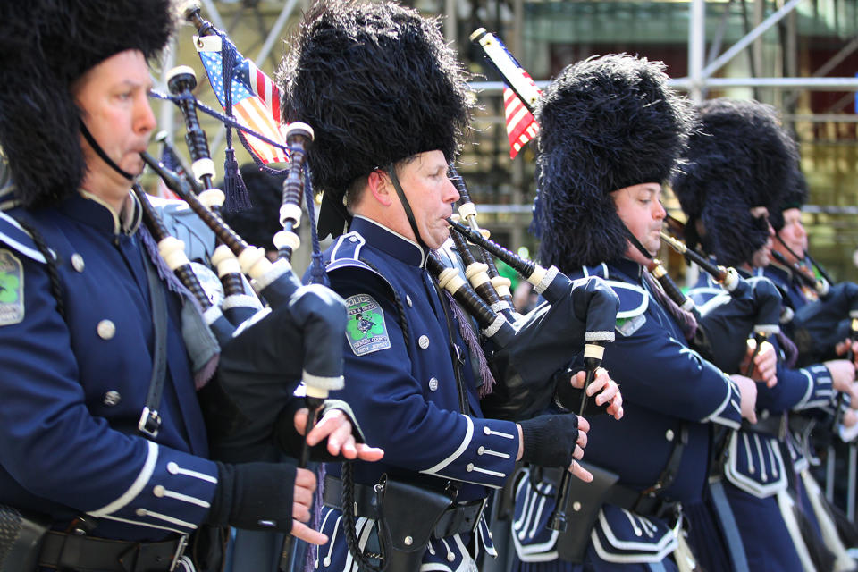
[[[198, 7], [189, 8], [189, 13], [208, 26], [207, 33], [219, 33], [199, 18]], [[223, 283], [222, 305], [215, 306], [206, 296], [190, 270], [181, 240], [169, 236], [147, 197], [139, 189], [136, 192], [144, 208], [144, 222], [161, 256], [191, 293], [218, 347], [216, 374], [200, 392], [213, 458], [229, 462], [273, 460], [279, 453], [273, 450], [272, 433], [278, 423], [292, 425], [291, 419], [281, 420], [280, 416], [299, 384], [305, 386], [305, 399], [311, 409], [307, 432], [328, 392], [343, 385], [344, 302], [324, 285], [302, 285], [290, 264], [300, 244], [296, 229], [302, 215], [302, 198], [305, 191], [310, 192], [305, 187], [306, 155], [313, 130], [296, 122], [284, 133], [284, 150], [290, 154], [290, 163], [282, 180], [282, 231], [273, 237], [279, 250], [272, 262], [264, 248], [249, 245], [219, 214], [224, 193], [214, 188], [214, 161], [197, 116], [201, 104], [192, 94], [196, 83], [193, 70], [187, 66], [167, 73], [173, 97], [165, 98], [181, 109], [191, 166], [179, 174], [147, 153], [141, 156], [214, 232], [217, 245], [210, 262]], [[307, 457], [306, 450], [301, 457]]]

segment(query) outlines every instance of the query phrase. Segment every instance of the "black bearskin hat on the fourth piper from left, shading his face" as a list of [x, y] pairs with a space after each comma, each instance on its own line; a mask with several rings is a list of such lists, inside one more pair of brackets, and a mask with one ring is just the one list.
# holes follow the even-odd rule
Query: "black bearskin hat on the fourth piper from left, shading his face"
[[771, 105], [719, 98], [704, 102], [699, 112], [688, 164], [673, 180], [688, 216], [686, 241], [695, 246], [700, 220], [703, 248], [722, 265], [741, 265], [769, 239], [768, 224], [749, 211], [779, 204], [798, 160], [795, 142]]

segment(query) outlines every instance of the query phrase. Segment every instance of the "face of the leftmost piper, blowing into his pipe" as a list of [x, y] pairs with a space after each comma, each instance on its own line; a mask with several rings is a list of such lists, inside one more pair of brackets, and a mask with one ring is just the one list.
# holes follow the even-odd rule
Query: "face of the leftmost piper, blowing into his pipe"
[[[146, 150], [149, 135], [156, 127], [148, 101], [151, 88], [146, 58], [138, 50], [112, 55], [71, 86], [71, 95], [93, 138], [115, 164], [132, 175], [143, 171], [139, 154]], [[86, 183], [106, 180], [124, 187], [122, 192], [127, 193], [129, 181], [105, 164], [82, 136], [80, 146], [88, 169], [84, 188], [99, 196], [105, 192], [105, 185], [87, 188]]]

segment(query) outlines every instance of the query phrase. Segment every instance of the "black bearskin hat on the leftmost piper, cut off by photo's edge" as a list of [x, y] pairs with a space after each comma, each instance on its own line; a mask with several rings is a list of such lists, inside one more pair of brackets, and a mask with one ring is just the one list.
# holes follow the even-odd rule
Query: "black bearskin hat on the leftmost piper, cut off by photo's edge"
[[24, 206], [55, 204], [83, 179], [71, 83], [128, 49], [156, 55], [171, 32], [170, 0], [0, 3], [0, 146]]

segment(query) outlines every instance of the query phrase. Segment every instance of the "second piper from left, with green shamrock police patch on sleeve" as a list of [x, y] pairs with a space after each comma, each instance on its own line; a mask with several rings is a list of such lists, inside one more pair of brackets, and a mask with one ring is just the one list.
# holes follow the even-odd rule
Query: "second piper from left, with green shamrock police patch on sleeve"
[[[382, 464], [327, 466], [331, 542], [316, 567], [475, 570], [494, 553], [486, 499], [518, 459], [589, 474], [576, 461], [583, 418], [484, 418], [480, 393], [492, 383], [470, 318], [426, 270], [455, 257], [442, 245], [458, 199], [448, 164], [471, 117], [466, 75], [435, 21], [396, 4], [323, 2], [306, 14], [281, 77], [287, 119], [315, 130], [320, 235], [336, 238], [327, 273], [349, 313], [347, 383], [332, 395], [385, 450]], [[604, 370], [601, 388], [599, 403], [618, 411]]]

